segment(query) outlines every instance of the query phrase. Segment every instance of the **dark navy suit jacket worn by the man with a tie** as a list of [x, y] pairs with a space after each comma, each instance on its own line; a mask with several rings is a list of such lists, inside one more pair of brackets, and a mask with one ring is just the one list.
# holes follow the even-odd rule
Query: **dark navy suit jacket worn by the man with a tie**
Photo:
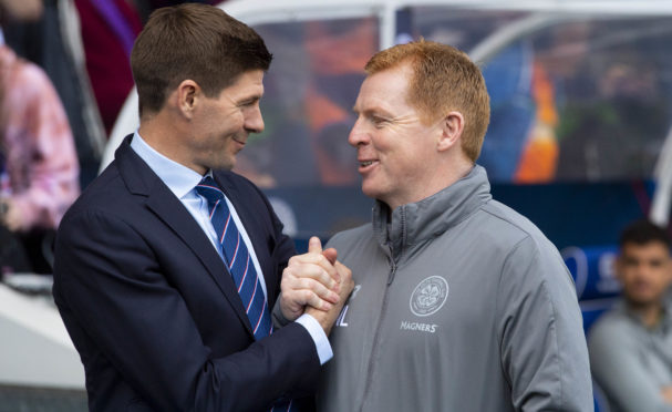
[[[310, 394], [314, 343], [290, 323], [255, 341], [234, 281], [203, 229], [131, 137], [63, 218], [53, 295], [86, 373], [92, 411], [261, 411]], [[294, 254], [266, 197], [230, 172], [269, 307]]]

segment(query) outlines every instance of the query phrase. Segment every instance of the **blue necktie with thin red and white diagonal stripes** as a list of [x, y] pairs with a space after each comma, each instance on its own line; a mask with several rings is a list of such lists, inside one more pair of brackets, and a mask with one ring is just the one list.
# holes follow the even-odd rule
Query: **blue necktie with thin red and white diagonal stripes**
[[270, 311], [252, 258], [236, 227], [224, 193], [210, 176], [200, 181], [196, 192], [208, 200], [210, 222], [221, 245], [224, 261], [234, 278], [255, 339], [267, 337], [272, 332]]

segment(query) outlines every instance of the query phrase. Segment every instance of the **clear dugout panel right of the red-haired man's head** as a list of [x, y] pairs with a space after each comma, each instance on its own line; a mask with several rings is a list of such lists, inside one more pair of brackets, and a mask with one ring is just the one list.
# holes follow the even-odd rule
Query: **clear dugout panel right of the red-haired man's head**
[[556, 16], [521, 24], [538, 17], [413, 8], [399, 14], [397, 38], [469, 52], [519, 30], [480, 62], [492, 117], [478, 163], [493, 182], [651, 178], [671, 125], [672, 19]]

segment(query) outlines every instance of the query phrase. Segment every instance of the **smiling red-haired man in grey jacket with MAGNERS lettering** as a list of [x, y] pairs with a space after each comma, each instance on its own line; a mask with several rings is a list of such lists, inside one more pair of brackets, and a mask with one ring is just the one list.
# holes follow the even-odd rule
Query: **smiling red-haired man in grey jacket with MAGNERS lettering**
[[318, 409], [592, 411], [571, 276], [475, 165], [489, 120], [480, 71], [427, 41], [365, 69], [349, 142], [376, 203], [372, 224], [329, 243], [356, 286]]

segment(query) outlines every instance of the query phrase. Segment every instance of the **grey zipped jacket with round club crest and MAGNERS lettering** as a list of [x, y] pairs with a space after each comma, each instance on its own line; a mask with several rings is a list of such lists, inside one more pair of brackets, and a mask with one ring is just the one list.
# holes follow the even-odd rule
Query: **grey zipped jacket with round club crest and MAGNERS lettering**
[[329, 241], [356, 286], [318, 411], [592, 411], [571, 276], [483, 167], [389, 214]]

